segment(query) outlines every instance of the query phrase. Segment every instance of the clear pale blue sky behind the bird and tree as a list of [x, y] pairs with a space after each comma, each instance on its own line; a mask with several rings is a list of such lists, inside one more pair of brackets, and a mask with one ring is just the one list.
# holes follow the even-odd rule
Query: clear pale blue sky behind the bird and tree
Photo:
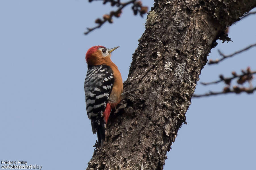
[[[153, 0], [143, 4], [152, 7]], [[87, 167], [97, 136], [85, 111], [85, 53], [94, 45], [120, 46], [112, 61], [126, 80], [144, 32], [146, 16], [134, 16], [127, 7], [113, 24], [83, 35], [110, 10], [110, 5], [87, 0], [0, 1], [0, 160], [23, 160], [45, 170]], [[234, 42], [219, 42], [209, 59], [220, 58], [217, 49], [230, 54], [255, 43], [255, 17], [230, 27]], [[206, 65], [200, 80], [231, 76], [231, 71], [240, 73], [247, 66], [256, 70], [255, 53], [253, 48]], [[223, 87], [198, 83], [195, 93]], [[255, 98], [256, 93], [192, 99], [187, 125], [179, 130], [164, 169], [253, 169]]]

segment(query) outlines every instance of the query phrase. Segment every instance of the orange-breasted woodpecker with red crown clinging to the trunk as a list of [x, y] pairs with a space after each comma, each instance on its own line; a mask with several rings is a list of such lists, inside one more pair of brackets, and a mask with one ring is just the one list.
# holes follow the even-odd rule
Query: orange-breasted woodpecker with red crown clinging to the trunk
[[88, 66], [84, 81], [85, 104], [92, 133], [97, 132], [97, 148], [104, 145], [110, 112], [120, 102], [123, 92], [121, 73], [110, 59], [111, 52], [118, 47], [93, 46], [85, 56]]

